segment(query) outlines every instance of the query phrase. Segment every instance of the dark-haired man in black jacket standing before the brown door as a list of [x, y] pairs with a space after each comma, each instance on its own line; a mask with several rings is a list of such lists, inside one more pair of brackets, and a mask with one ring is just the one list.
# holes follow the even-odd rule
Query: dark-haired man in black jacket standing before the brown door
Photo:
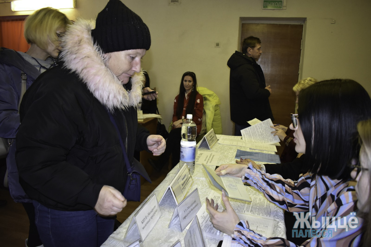
[[236, 51], [227, 62], [230, 67], [230, 112], [235, 124], [235, 136], [241, 136], [240, 130], [250, 126], [247, 123], [249, 120], [274, 120], [268, 100], [272, 90], [266, 86], [263, 70], [256, 63], [262, 53], [260, 39], [249, 36], [242, 42], [242, 52]]

